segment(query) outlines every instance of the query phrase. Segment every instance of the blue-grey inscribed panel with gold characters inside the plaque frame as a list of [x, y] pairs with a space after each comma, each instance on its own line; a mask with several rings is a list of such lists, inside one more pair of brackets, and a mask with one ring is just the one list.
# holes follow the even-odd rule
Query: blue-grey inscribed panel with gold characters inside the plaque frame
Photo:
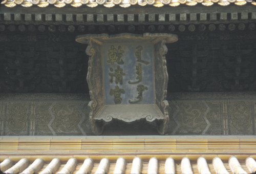
[[153, 104], [152, 44], [103, 44], [105, 104]]

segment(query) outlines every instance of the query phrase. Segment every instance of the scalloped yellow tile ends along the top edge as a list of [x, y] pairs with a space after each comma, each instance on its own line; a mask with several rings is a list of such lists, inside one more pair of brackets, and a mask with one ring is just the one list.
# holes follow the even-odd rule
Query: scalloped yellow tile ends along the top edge
[[15, 7], [16, 5], [21, 5], [23, 7], [31, 7], [33, 5], [47, 7], [49, 5], [54, 5], [55, 7], [61, 8], [70, 4], [72, 7], [87, 5], [88, 7], [93, 8], [98, 5], [103, 5], [104, 7], [111, 8], [119, 5], [120, 7], [127, 8], [131, 5], [153, 5], [154, 7], [169, 5], [176, 7], [180, 4], [186, 4], [187, 6], [195, 6], [197, 4], [202, 4], [204, 6], [211, 6], [214, 4], [228, 6], [229, 4], [235, 4], [243, 6], [247, 3], [256, 5], [256, 2], [252, 0], [3, 0], [1, 4], [4, 4], [6, 7]]

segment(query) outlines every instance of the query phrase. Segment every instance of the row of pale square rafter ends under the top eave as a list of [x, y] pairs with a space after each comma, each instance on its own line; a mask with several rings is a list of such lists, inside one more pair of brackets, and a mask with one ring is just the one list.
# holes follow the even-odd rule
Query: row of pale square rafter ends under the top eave
[[228, 24], [248, 23], [256, 19], [252, 5], [212, 7], [131, 7], [97, 8], [12, 8], [1, 7], [0, 24], [33, 25], [164, 25], [164, 24]]

